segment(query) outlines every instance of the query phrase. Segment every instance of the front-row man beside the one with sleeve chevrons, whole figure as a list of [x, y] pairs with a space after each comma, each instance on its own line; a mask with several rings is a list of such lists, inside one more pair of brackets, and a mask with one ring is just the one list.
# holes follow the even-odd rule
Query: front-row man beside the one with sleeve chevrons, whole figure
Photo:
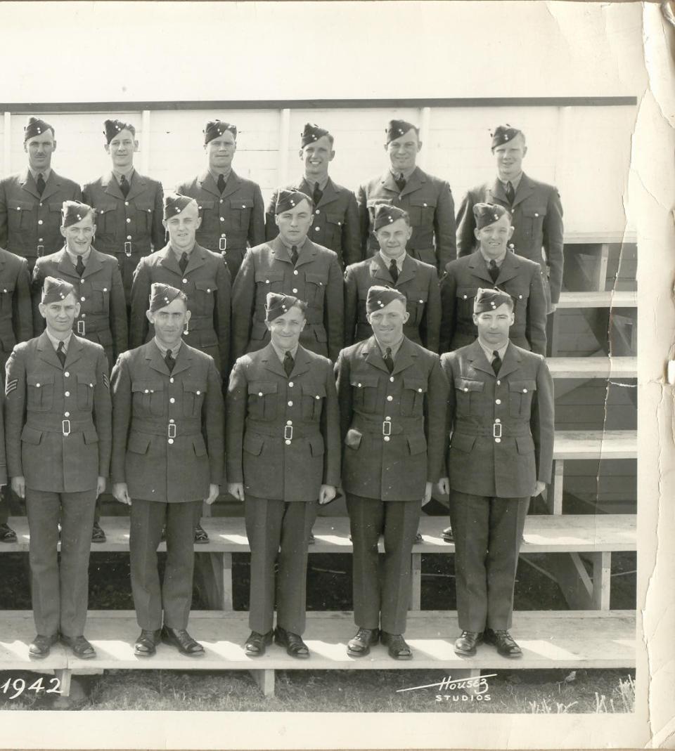
[[[201, 503], [213, 503], [222, 482], [222, 385], [213, 358], [181, 338], [190, 318], [183, 291], [153, 284], [147, 318], [154, 338], [121, 354], [111, 378], [113, 495], [132, 507], [129, 553], [141, 627], [135, 654], [153, 655], [161, 638], [197, 656], [204, 648], [186, 631], [192, 529]], [[160, 587], [157, 546], [164, 525], [167, 560]]]

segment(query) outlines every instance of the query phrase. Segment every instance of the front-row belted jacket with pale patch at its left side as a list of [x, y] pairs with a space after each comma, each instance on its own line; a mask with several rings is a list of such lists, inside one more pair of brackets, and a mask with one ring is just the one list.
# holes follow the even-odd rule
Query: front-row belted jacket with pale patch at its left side
[[335, 372], [342, 487], [365, 498], [421, 501], [443, 465], [447, 382], [438, 355], [404, 337], [390, 374], [371, 336], [341, 351]]

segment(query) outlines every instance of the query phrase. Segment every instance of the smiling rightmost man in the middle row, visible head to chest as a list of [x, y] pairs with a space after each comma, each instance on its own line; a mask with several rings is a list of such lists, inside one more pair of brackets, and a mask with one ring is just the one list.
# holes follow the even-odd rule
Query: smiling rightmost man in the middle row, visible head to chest
[[546, 297], [540, 266], [508, 247], [510, 213], [498, 204], [475, 204], [474, 234], [478, 249], [447, 265], [440, 282], [443, 321], [440, 351], [459, 349], [476, 340], [474, 300], [477, 290], [495, 286], [510, 294], [516, 307], [510, 339], [518, 347], [546, 354]]

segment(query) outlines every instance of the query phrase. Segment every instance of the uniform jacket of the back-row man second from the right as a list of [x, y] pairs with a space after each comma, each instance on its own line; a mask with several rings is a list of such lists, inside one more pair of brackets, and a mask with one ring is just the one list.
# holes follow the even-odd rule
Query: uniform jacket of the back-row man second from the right
[[364, 257], [380, 250], [374, 237], [375, 210], [389, 204], [407, 211], [412, 237], [407, 252], [436, 267], [439, 273], [448, 261], [456, 258], [455, 203], [448, 183], [415, 167], [401, 191], [390, 170], [365, 182], [356, 194], [359, 204], [361, 243]]

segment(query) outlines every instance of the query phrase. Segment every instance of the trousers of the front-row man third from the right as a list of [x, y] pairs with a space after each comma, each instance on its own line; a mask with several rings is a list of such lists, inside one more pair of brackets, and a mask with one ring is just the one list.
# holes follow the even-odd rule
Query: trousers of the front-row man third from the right
[[[249, 626], [266, 634], [274, 620], [293, 634], [305, 628], [307, 545], [318, 501], [268, 500], [246, 496], [244, 517], [251, 547]], [[274, 564], [279, 562], [276, 582]]]

